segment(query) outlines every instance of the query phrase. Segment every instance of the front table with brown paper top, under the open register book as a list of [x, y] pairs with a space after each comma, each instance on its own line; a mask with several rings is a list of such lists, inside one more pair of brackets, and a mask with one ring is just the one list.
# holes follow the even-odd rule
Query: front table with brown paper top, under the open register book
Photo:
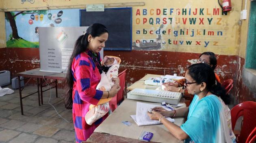
[[[160, 103], [152, 103], [146, 101], [138, 101], [143, 103], [150, 103], [155, 105], [161, 105]], [[88, 142], [101, 143], [102, 141], [106, 143], [140, 143], [138, 140], [139, 135], [143, 131], [150, 131], [154, 134], [151, 141], [161, 142], [161, 143], [182, 143], [174, 137], [169, 130], [163, 124], [155, 124], [148, 126], [138, 126], [130, 115], [136, 114], [136, 104], [137, 100], [125, 99], [112, 114], [98, 126], [91, 135]], [[186, 105], [184, 104], [185, 107]], [[179, 108], [182, 108], [179, 107]], [[178, 109], [179, 109], [178, 108]], [[175, 124], [181, 126], [184, 123], [184, 118], [174, 118]], [[132, 126], [125, 126], [122, 124], [122, 121], [129, 121], [132, 123]], [[96, 136], [97, 135], [97, 136]]]

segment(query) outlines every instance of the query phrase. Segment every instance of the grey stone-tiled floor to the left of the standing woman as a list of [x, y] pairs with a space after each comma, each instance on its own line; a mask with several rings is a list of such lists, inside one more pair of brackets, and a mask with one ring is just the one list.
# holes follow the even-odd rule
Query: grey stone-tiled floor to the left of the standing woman
[[[4, 86], [2, 88], [11, 86]], [[24, 88], [23, 96], [32, 93], [36, 86]], [[65, 120], [48, 104], [50, 90], [43, 93], [43, 105], [38, 105], [37, 94], [24, 98], [24, 115], [20, 112], [19, 90], [11, 95], [0, 97], [0, 143], [74, 143], [75, 133], [72, 110], [65, 109], [61, 95], [63, 90], [52, 89], [50, 103]]]

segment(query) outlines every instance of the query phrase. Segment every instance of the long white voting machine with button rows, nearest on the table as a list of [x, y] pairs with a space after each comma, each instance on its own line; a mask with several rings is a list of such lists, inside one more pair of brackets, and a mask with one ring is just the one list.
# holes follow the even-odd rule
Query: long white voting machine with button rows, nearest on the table
[[127, 99], [150, 101], [167, 104], [178, 105], [181, 98], [181, 93], [165, 91], [165, 90], [153, 90], [153, 89], [140, 89], [135, 88], [127, 93]]

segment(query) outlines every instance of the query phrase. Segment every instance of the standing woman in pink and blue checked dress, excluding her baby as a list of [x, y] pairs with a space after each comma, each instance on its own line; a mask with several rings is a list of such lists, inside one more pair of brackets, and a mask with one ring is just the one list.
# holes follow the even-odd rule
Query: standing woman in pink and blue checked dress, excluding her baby
[[64, 103], [67, 109], [73, 110], [77, 143], [86, 141], [93, 130], [108, 116], [106, 114], [91, 125], [87, 124], [85, 115], [89, 111], [89, 106], [97, 105], [100, 99], [114, 97], [120, 90], [119, 78], [113, 79], [115, 84], [111, 90], [96, 90], [102, 74], [99, 52], [104, 48], [106, 40], [108, 40], [108, 30], [104, 25], [95, 23], [89, 26], [86, 33], [76, 40], [69, 61]]

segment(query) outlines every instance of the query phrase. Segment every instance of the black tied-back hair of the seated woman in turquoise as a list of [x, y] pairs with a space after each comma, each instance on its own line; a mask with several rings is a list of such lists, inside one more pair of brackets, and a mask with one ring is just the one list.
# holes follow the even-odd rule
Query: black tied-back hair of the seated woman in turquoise
[[225, 104], [230, 103], [229, 95], [226, 95], [226, 90], [217, 82], [213, 68], [210, 65], [205, 63], [193, 64], [188, 67], [188, 74], [197, 84], [205, 82], [206, 89], [214, 95], [221, 97]]

